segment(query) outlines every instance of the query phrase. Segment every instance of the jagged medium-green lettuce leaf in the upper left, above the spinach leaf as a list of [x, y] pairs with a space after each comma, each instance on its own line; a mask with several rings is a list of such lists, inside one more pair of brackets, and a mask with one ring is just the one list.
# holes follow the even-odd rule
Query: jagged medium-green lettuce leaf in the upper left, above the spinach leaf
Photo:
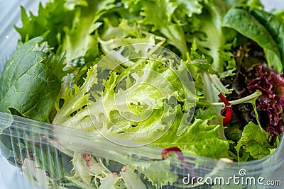
[[16, 27], [16, 30], [21, 35], [22, 42], [44, 36], [48, 44], [56, 50], [60, 45], [58, 38], [63, 35], [63, 27], [70, 27], [73, 18], [73, 9], [67, 8], [63, 0], [47, 2], [45, 6], [40, 3], [37, 16], [31, 12], [28, 14], [21, 8], [23, 25], [21, 28]]

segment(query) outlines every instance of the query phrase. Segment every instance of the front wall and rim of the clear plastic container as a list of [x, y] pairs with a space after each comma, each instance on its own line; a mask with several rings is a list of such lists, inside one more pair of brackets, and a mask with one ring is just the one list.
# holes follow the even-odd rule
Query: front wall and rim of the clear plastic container
[[[6, 127], [9, 127], [9, 129], [5, 130]], [[38, 184], [35, 185], [35, 188], [58, 188], [57, 184], [60, 184], [61, 181], [59, 178], [51, 180], [46, 177], [46, 173], [38, 168], [36, 163], [28, 160], [28, 156], [31, 159], [33, 157], [26, 149], [36, 151], [38, 153], [36, 155], [41, 159], [45, 159], [43, 158], [45, 156], [43, 152], [48, 151], [50, 157], [45, 159], [47, 161], [42, 162], [42, 164], [45, 165], [45, 168], [52, 170], [50, 172], [55, 175], [64, 175], [72, 168], [72, 162], [68, 161], [68, 157], [60, 151], [75, 151], [101, 156], [104, 159], [118, 161], [124, 165], [137, 165], [141, 166], [141, 168], [148, 168], [148, 171], [158, 173], [157, 178], [161, 181], [165, 181], [165, 176], [167, 176], [167, 181], [175, 181], [176, 176], [178, 176], [173, 188], [191, 188], [188, 184], [191, 180], [189, 181], [188, 178], [194, 179], [193, 177], [200, 177], [200, 181], [197, 180], [200, 183], [205, 182], [204, 185], [197, 186], [197, 188], [211, 188], [206, 183], [212, 181], [221, 182], [223, 188], [231, 188], [238, 183], [243, 183], [246, 188], [270, 188], [268, 185], [261, 185], [262, 183], [266, 184], [266, 181], [278, 185], [273, 186], [273, 188], [283, 188], [280, 185], [280, 183], [284, 182], [283, 142], [281, 142], [278, 150], [270, 156], [261, 160], [243, 163], [184, 154], [185, 162], [192, 170], [189, 171], [184, 168], [180, 159], [173, 158], [170, 159], [172, 173], [169, 173], [168, 169], [163, 169], [168, 165], [168, 161], [149, 160], [160, 159], [162, 149], [157, 147], [122, 147], [109, 142], [99, 134], [70, 130], [66, 127], [27, 120], [6, 113], [0, 113], [0, 130], [4, 130], [5, 137], [11, 140], [14, 152], [12, 156], [15, 156], [15, 158], [10, 158], [9, 161], [23, 168], [22, 171], [18, 168], [16, 176], [21, 177], [24, 175], [27, 179], [31, 179], [31, 183]], [[25, 145], [23, 146], [23, 144]], [[18, 153], [20, 150], [21, 153]], [[9, 151], [2, 151], [2, 158], [5, 158], [7, 152]], [[1, 173], [3, 173], [2, 171], [4, 170], [1, 169]], [[201, 178], [204, 178], [204, 180], [202, 181]], [[30, 180], [26, 180], [26, 182], [28, 181]], [[229, 183], [231, 185], [228, 185]], [[28, 186], [20, 183], [20, 188], [28, 188]]]

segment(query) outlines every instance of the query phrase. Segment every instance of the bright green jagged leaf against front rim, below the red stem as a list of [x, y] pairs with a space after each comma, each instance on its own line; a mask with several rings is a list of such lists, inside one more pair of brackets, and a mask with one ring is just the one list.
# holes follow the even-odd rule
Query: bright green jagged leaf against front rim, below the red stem
[[229, 141], [220, 139], [220, 125], [208, 125], [208, 120], [195, 119], [187, 127], [187, 130], [180, 137], [173, 133], [177, 125], [172, 125], [170, 130], [160, 139], [153, 143], [157, 147], [178, 147], [187, 154], [197, 154], [211, 158], [220, 158], [229, 149]]

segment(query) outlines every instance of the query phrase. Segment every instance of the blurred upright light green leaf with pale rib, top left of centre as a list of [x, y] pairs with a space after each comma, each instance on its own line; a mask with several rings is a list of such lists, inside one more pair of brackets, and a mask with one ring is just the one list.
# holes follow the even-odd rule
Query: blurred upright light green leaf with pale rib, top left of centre
[[84, 57], [88, 62], [99, 55], [97, 35], [93, 34], [102, 25], [97, 22], [97, 6], [95, 1], [88, 1], [88, 6], [77, 6], [72, 26], [63, 28], [65, 38], [62, 38], [61, 50], [66, 50], [65, 69], [70, 69], [77, 58]]

